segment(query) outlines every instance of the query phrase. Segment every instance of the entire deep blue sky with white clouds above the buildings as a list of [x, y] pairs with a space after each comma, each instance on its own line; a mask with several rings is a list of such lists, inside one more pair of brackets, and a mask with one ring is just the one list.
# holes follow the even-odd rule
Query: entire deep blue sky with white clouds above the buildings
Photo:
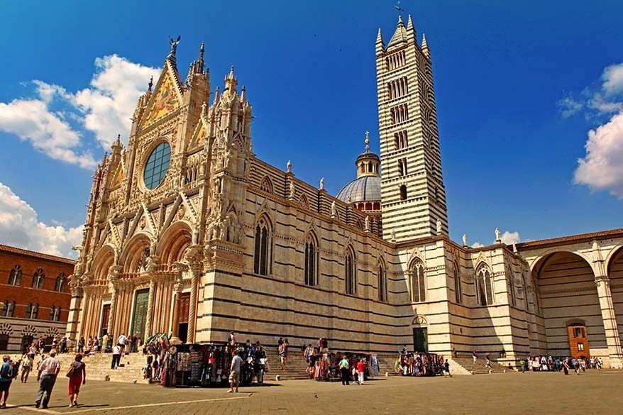
[[[391, 37], [394, 5], [5, 2], [0, 190], [13, 201], [0, 202], [0, 243], [68, 255], [84, 222], [92, 162], [104, 153], [100, 142], [114, 140], [119, 129], [104, 117], [105, 125], [89, 124], [89, 114], [98, 114], [89, 96], [106, 98], [109, 91], [92, 80], [111, 62], [105, 57], [118, 55], [134, 70], [132, 85], [144, 89], [145, 74], [167, 55], [168, 35], [182, 36], [182, 77], [202, 41], [213, 89], [236, 66], [256, 116], [253, 148], [260, 158], [281, 168], [290, 159], [297, 177], [312, 184], [325, 177], [336, 194], [355, 176], [365, 130], [378, 148], [374, 43], [378, 28], [386, 41]], [[431, 47], [454, 240], [468, 233], [470, 242], [491, 243], [496, 226], [522, 240], [622, 226], [621, 2], [403, 0], [400, 6]], [[96, 67], [97, 58], [104, 67]], [[53, 98], [46, 101], [35, 80]], [[66, 151], [50, 157], [47, 121], [37, 127], [43, 132], [29, 131], [38, 124], [32, 119], [15, 121], [15, 114], [23, 116], [16, 111], [33, 117], [35, 107], [25, 104], [33, 101], [65, 125], [53, 130], [56, 140], [76, 134], [61, 143], [70, 157]], [[600, 126], [588, 157], [588, 132]], [[31, 234], [40, 224], [45, 232]]]

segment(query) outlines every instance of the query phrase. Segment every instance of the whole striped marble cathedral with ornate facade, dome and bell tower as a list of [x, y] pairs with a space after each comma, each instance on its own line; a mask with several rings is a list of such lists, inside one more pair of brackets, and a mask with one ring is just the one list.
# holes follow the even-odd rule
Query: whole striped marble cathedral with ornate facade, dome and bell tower
[[622, 366], [623, 229], [511, 246], [496, 230], [481, 248], [448, 237], [431, 49], [410, 17], [375, 42], [380, 154], [366, 133], [336, 197], [253, 153], [233, 67], [212, 92], [204, 46], [184, 79], [176, 50], [138, 99], [127, 147], [118, 138], [94, 174], [68, 336], [235, 331]]

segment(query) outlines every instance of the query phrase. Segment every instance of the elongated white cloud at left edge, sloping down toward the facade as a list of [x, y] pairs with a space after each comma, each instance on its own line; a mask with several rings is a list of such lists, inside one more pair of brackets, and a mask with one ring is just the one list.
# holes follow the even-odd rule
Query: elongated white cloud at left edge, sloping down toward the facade
[[28, 140], [34, 148], [56, 160], [62, 160], [87, 169], [95, 167], [93, 156], [78, 153], [80, 134], [48, 108], [40, 99], [14, 99], [9, 104], [0, 102], [0, 131]]

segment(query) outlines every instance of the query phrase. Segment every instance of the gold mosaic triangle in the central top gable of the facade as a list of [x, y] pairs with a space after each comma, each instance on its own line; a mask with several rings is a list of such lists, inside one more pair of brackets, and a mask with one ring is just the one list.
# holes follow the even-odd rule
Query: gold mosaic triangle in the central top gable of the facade
[[142, 127], [149, 126], [160, 118], [171, 114], [180, 108], [181, 104], [182, 89], [180, 87], [180, 79], [175, 67], [167, 60], [149, 100], [145, 116], [143, 117], [144, 121], [141, 123]]

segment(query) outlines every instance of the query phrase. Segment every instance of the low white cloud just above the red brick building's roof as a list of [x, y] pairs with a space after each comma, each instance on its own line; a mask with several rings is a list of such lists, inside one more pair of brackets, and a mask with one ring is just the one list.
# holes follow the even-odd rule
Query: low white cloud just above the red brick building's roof
[[0, 243], [75, 258], [73, 245], [82, 242], [82, 225], [75, 228], [40, 222], [37, 212], [0, 182]]

